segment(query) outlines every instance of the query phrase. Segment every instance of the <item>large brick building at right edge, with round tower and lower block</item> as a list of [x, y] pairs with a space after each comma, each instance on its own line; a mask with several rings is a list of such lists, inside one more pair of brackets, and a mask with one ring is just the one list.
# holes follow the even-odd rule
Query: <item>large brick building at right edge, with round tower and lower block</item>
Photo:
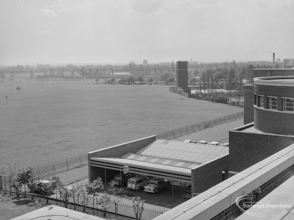
[[294, 143], [294, 77], [259, 77], [245, 85], [244, 124], [229, 131], [233, 172]]

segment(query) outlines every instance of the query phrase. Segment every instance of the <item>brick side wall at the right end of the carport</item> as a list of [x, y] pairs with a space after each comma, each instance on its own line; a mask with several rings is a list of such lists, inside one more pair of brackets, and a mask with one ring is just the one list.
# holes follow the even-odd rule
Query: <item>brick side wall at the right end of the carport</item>
[[222, 181], [222, 171], [228, 170], [229, 155], [191, 170], [192, 193], [201, 193]]

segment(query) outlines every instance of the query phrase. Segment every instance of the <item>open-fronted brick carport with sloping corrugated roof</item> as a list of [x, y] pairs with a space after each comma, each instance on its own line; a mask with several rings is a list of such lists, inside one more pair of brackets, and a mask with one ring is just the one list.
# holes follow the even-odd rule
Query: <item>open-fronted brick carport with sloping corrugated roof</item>
[[[228, 147], [156, 140], [150, 136], [88, 153], [89, 181], [119, 172], [191, 184], [203, 192], [228, 177]], [[173, 184], [174, 185], [174, 184]]]

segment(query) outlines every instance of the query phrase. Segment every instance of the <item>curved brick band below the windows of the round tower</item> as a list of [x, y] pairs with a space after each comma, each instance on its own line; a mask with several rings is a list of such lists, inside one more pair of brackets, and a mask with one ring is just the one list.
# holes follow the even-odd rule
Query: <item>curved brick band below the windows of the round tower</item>
[[255, 107], [254, 127], [266, 133], [294, 135], [294, 114]]

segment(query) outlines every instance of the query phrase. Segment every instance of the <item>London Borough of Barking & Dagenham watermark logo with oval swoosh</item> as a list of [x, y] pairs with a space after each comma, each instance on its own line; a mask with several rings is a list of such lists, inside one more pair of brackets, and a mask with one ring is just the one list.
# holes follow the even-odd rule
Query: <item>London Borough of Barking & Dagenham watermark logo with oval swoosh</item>
[[[238, 206], [238, 208], [244, 213], [251, 216], [258, 216], [258, 217], [265, 217], [266, 215], [264, 213], [267, 212], [267, 209], [291, 208], [290, 205], [286, 205], [286, 204], [267, 204], [267, 203], [262, 203], [256, 200], [257, 200], [256, 197], [253, 195], [243, 195], [243, 196], [239, 196], [235, 200], [235, 203]], [[255, 208], [254, 210], [260, 210], [260, 212], [257, 213], [257, 212], [248, 211], [248, 209], [251, 207]]]

